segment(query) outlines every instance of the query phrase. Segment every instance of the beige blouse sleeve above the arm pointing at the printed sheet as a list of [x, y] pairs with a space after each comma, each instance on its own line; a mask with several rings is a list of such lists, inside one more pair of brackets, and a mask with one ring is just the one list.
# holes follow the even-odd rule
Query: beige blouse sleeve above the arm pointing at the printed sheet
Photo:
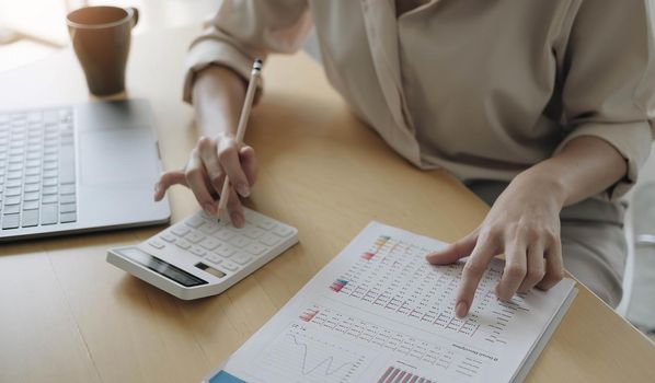
[[604, 197], [636, 182], [655, 136], [655, 44], [651, 0], [583, 1], [572, 24], [562, 93], [565, 137], [594, 136], [613, 146], [625, 176]]

